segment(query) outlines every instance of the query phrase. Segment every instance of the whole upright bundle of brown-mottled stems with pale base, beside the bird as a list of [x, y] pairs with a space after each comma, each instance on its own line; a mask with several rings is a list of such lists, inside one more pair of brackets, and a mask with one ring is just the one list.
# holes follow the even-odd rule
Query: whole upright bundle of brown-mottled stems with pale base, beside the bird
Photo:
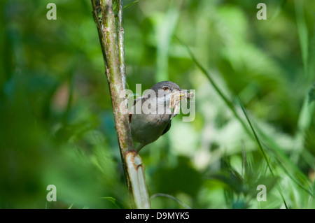
[[[118, 0], [118, 35], [112, 0], [92, 0], [93, 17], [102, 46], [104, 66], [116, 123], [120, 155], [132, 208], [150, 208], [148, 189], [141, 157], [134, 150], [128, 114], [121, 110], [125, 103], [125, 50], [123, 38], [123, 0]], [[99, 17], [102, 13], [102, 17]], [[118, 36], [118, 37], [117, 37]], [[119, 40], [119, 41], [118, 41]]]

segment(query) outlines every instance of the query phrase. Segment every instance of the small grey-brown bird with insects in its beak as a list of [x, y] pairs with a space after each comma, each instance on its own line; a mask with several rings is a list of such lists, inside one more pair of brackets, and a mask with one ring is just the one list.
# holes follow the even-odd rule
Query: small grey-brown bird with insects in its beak
[[174, 82], [162, 81], [134, 99], [129, 118], [132, 138], [139, 143], [137, 152], [169, 131], [172, 118], [179, 113], [182, 96], [187, 96], [187, 91]]

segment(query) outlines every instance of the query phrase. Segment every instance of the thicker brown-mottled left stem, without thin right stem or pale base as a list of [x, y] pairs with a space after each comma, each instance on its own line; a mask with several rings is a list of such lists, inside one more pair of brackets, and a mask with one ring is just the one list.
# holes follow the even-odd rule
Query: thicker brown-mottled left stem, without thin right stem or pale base
[[[104, 57], [104, 66], [107, 80], [109, 81], [109, 89], [111, 101], [113, 105], [113, 114], [116, 123], [116, 131], [118, 135], [118, 143], [120, 147], [120, 155], [123, 161], [125, 178], [127, 180], [128, 191], [132, 196], [132, 186], [130, 178], [127, 174], [127, 164], [125, 156], [128, 150], [133, 150], [132, 136], [127, 114], [123, 115], [120, 111], [120, 103], [123, 99], [120, 98], [120, 92], [123, 91], [123, 82], [120, 75], [118, 46], [115, 26], [115, 15], [113, 13], [113, 3], [111, 0], [94, 1], [92, 0], [93, 16], [97, 23], [97, 31], [99, 41], [102, 47]], [[102, 11], [102, 20], [100, 21], [99, 12]], [[132, 199], [131, 199], [132, 200]], [[132, 205], [133, 206], [133, 205]]]

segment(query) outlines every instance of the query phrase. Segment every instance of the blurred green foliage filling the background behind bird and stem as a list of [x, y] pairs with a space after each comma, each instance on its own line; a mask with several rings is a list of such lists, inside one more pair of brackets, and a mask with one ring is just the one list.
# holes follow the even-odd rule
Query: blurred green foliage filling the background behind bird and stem
[[[49, 2], [57, 20], [46, 19]], [[259, 2], [140, 0], [125, 10], [128, 87], [196, 89], [195, 120], [174, 117], [141, 150], [151, 196], [191, 208], [315, 208], [315, 2], [265, 0], [267, 20], [257, 20]], [[130, 208], [90, 1], [0, 8], [0, 208]], [[57, 202], [46, 201], [48, 185]]]

